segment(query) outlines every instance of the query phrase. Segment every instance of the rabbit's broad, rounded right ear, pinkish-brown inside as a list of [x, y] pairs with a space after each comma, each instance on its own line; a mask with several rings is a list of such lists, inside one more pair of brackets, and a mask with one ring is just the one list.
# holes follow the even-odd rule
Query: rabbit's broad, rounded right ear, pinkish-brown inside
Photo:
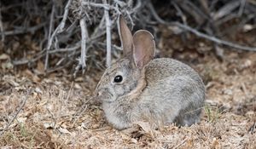
[[133, 59], [136, 66], [142, 68], [154, 58], [154, 37], [145, 30], [139, 30], [133, 35]]

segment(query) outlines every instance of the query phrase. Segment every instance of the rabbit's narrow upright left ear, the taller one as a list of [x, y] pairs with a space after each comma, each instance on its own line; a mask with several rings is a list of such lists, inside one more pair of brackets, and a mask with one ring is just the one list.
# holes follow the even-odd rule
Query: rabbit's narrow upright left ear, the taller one
[[133, 49], [132, 35], [122, 15], [119, 15], [119, 34], [125, 57], [131, 56]]

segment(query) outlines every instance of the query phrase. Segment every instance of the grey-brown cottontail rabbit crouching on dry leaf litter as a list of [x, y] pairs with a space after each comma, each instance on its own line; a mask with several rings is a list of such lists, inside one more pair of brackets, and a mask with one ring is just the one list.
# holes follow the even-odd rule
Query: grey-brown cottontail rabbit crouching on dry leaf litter
[[95, 90], [108, 123], [115, 129], [128, 129], [139, 121], [198, 123], [205, 100], [199, 74], [178, 60], [154, 59], [152, 34], [139, 30], [132, 36], [122, 16], [119, 36], [124, 57], [106, 69]]

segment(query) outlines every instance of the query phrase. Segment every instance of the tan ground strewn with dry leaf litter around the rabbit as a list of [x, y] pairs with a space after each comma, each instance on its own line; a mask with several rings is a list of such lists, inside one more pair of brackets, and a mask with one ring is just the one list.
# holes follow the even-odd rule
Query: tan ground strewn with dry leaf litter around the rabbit
[[224, 59], [219, 60], [213, 52], [191, 54], [185, 50], [176, 58], [195, 68], [206, 83], [201, 123], [160, 129], [137, 123], [119, 131], [106, 122], [101, 106], [91, 98], [102, 71], [91, 70], [74, 80], [60, 72], [44, 77], [37, 75], [44, 69], [39, 61], [33, 71], [8, 72], [9, 58], [2, 54], [0, 146], [256, 148], [256, 53], [225, 49]]

